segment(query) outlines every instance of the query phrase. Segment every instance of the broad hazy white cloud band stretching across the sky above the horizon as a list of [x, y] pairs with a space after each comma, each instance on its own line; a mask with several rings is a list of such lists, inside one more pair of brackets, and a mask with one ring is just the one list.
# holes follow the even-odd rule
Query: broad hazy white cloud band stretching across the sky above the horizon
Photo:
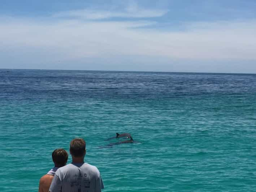
[[[117, 13], [112, 13], [117, 14]], [[146, 14], [145, 14], [146, 15]], [[190, 23], [186, 31], [134, 29], [149, 21], [94, 22], [81, 19], [0, 19], [0, 60], [24, 62], [142, 56], [188, 60], [256, 60], [256, 21]], [[15, 58], [17, 60], [17, 58]], [[3, 61], [3, 60], [2, 60]], [[3, 62], [0, 62], [3, 63]], [[1, 67], [0, 67], [1, 68]]]

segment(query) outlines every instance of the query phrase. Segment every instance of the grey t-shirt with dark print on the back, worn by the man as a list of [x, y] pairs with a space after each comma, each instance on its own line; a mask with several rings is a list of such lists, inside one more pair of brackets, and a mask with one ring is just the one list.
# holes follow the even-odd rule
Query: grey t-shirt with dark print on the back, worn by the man
[[52, 180], [50, 192], [101, 192], [104, 189], [97, 167], [88, 163], [70, 163], [60, 167]]

